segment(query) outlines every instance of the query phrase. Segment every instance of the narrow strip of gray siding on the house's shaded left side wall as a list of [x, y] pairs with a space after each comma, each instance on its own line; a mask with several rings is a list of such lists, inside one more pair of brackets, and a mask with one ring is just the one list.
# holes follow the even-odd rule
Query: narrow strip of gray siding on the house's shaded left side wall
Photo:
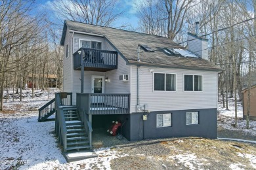
[[[66, 56], [66, 46], [68, 44], [69, 55]], [[63, 62], [63, 92], [72, 92], [72, 33], [69, 29], [66, 31], [66, 39], [64, 42], [64, 62]]]

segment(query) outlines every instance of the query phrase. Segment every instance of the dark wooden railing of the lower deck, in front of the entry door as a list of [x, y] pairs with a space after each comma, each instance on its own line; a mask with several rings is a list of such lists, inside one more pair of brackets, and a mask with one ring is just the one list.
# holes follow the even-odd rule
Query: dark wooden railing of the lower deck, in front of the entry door
[[130, 94], [77, 93], [77, 109], [86, 114], [127, 114]]

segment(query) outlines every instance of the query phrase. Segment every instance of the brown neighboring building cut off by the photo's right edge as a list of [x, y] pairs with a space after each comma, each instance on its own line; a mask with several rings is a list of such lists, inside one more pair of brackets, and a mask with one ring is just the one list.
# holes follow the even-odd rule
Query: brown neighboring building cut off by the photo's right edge
[[[243, 91], [243, 113], [244, 113], [244, 119], [246, 119], [247, 110], [248, 110], [248, 93], [249, 88], [245, 88]], [[250, 105], [249, 105], [249, 118], [250, 120], [256, 120], [256, 85], [251, 86], [250, 91]]]

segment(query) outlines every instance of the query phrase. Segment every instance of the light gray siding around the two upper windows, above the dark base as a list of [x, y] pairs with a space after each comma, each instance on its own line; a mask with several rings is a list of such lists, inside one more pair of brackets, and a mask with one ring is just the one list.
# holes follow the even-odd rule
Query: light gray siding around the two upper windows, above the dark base
[[[176, 92], [154, 92], [153, 74], [148, 69], [158, 73], [176, 74]], [[131, 84], [131, 112], [137, 112], [137, 67], [132, 67]], [[184, 74], [202, 75], [202, 92], [184, 92]], [[148, 104], [151, 111], [211, 109], [217, 108], [217, 72], [195, 71], [186, 69], [162, 69], [152, 67], [139, 67], [139, 97], [140, 105]]]

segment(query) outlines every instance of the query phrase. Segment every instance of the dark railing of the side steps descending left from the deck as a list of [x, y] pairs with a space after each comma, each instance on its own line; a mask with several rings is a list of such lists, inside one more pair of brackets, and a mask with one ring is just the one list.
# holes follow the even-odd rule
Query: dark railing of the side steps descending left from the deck
[[55, 99], [52, 99], [51, 101], [43, 105], [43, 107], [38, 109], [38, 122], [43, 122], [43, 120], [46, 119], [45, 116], [51, 116], [51, 114], [55, 112], [54, 103], [55, 103]]

